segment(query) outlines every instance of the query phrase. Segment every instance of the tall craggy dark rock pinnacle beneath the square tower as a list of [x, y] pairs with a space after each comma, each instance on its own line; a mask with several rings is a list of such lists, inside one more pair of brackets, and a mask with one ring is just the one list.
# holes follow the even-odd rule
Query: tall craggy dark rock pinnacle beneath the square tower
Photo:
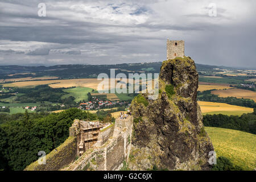
[[207, 170], [213, 145], [197, 104], [198, 73], [190, 57], [163, 61], [159, 96], [140, 94], [131, 104], [134, 117], [129, 167]]

